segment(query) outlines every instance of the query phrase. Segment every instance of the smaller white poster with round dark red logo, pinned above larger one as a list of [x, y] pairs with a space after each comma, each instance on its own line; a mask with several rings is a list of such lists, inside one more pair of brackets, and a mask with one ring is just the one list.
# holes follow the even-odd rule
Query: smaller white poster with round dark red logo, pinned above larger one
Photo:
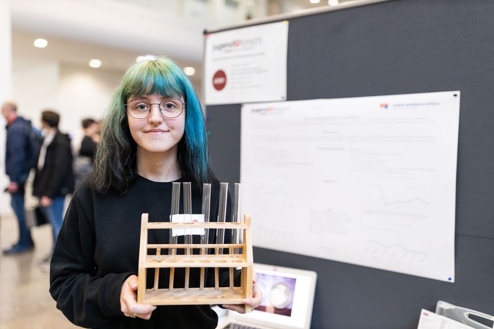
[[288, 21], [206, 35], [205, 102], [287, 99]]

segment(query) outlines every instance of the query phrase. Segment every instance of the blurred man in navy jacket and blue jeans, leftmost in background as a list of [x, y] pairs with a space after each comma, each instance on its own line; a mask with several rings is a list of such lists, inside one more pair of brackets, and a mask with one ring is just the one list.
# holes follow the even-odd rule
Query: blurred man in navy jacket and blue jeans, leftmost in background
[[12, 247], [3, 250], [3, 254], [17, 254], [30, 251], [34, 247], [31, 231], [26, 225], [24, 210], [24, 184], [31, 170], [28, 136], [31, 123], [17, 115], [17, 106], [14, 103], [3, 103], [1, 113], [7, 120], [5, 172], [10, 183], [6, 191], [10, 193], [11, 206], [19, 225], [19, 241]]

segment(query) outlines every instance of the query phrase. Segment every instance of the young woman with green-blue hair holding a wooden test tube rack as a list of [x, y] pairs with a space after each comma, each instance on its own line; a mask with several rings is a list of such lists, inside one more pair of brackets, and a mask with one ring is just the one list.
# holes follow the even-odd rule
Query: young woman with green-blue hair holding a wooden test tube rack
[[[216, 327], [209, 305], [137, 303], [141, 214], [167, 220], [172, 182], [179, 181], [192, 182], [193, 213], [202, 210], [202, 183], [212, 183], [209, 220], [216, 221], [219, 183], [210, 170], [205, 122], [191, 82], [168, 58], [135, 63], [113, 95], [94, 171], [76, 188], [51, 260], [50, 293], [71, 322], [88, 328]], [[149, 232], [151, 244], [168, 239], [168, 230]], [[214, 239], [211, 234], [209, 243]], [[160, 271], [160, 288], [168, 286], [168, 273]], [[209, 285], [213, 275], [206, 274]], [[228, 275], [221, 273], [223, 285]], [[184, 271], [177, 269], [174, 277], [174, 287], [183, 287]], [[199, 270], [191, 269], [190, 287], [199, 287], [199, 278]], [[147, 288], [152, 279], [148, 271]], [[261, 299], [254, 284], [245, 303], [256, 307]], [[243, 305], [223, 306], [244, 312]]]

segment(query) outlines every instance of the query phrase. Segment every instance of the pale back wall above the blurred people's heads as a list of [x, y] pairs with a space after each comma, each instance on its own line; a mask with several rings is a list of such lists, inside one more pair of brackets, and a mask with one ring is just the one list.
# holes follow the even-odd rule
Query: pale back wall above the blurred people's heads
[[57, 62], [16, 68], [12, 76], [12, 99], [18, 112], [40, 127], [41, 112], [60, 114], [62, 132], [79, 131], [81, 120], [101, 119], [123, 72], [81, 68]]

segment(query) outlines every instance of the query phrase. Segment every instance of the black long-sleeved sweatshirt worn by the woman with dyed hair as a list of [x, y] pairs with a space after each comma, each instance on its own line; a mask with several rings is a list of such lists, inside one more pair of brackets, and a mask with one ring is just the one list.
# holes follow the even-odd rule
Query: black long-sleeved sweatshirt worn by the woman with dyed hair
[[[180, 181], [180, 180], [178, 180]], [[126, 193], [97, 194], [87, 177], [77, 186], [58, 235], [50, 266], [50, 293], [57, 308], [74, 324], [85, 328], [215, 328], [216, 313], [209, 305], [158, 306], [150, 320], [125, 317], [120, 292], [125, 279], [138, 273], [141, 214], [150, 222], [169, 221], [171, 182], [161, 183], [138, 176]], [[209, 221], [217, 221], [219, 184], [211, 189]], [[230, 199], [230, 196], [229, 196]], [[231, 221], [228, 202], [227, 221]], [[202, 211], [202, 189], [192, 189], [192, 212]], [[183, 189], [180, 194], [183, 213]], [[225, 242], [231, 241], [226, 230]], [[209, 232], [209, 243], [216, 238]], [[149, 230], [148, 243], [168, 243], [169, 230]], [[194, 243], [200, 236], [193, 237]], [[183, 236], [178, 237], [183, 243]], [[179, 249], [180, 250], [180, 249]], [[181, 249], [183, 252], [183, 249]], [[150, 249], [148, 253], [155, 253]], [[148, 270], [147, 288], [154, 283]], [[220, 269], [221, 286], [228, 285], [228, 269]], [[168, 269], [160, 270], [159, 288], [168, 287]], [[214, 271], [207, 271], [208, 286], [214, 286]], [[240, 280], [240, 271], [235, 272]], [[174, 287], [184, 287], [184, 269], [176, 269]], [[199, 269], [191, 269], [190, 287], [199, 287]]]

